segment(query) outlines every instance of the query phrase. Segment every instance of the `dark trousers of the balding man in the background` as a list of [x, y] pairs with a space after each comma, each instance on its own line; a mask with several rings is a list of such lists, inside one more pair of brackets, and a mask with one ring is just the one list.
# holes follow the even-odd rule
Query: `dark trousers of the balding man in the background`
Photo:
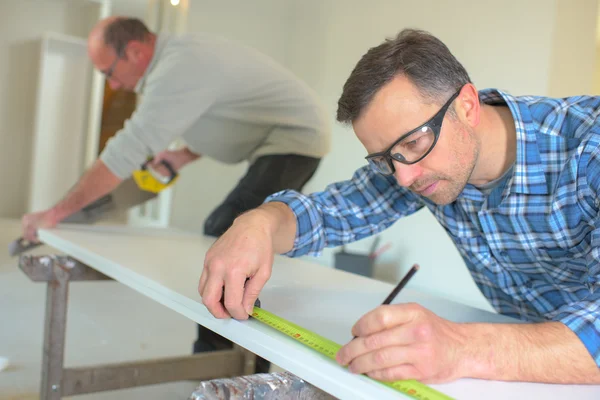
[[[313, 176], [318, 158], [295, 154], [267, 155], [259, 157], [240, 179], [227, 198], [206, 219], [204, 234], [221, 236], [240, 214], [258, 207], [267, 196], [284, 189], [301, 191]], [[233, 347], [231, 341], [198, 325], [198, 340], [194, 343], [194, 353], [224, 350]], [[269, 371], [270, 363], [258, 357], [256, 373]]]

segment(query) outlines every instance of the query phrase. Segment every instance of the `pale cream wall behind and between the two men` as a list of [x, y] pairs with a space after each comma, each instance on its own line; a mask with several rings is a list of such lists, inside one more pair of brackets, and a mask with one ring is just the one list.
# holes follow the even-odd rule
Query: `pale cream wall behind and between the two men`
[[[596, 0], [572, 5], [570, 0], [206, 0], [192, 4], [188, 28], [223, 33], [282, 61], [320, 94], [334, 120], [342, 86], [359, 58], [405, 27], [440, 37], [479, 88], [515, 95], [590, 93]], [[307, 191], [347, 179], [364, 165], [365, 151], [350, 129], [334, 123], [333, 135], [333, 150]], [[184, 171], [177, 185], [175, 225], [201, 230], [203, 218], [245, 169], [202, 163]], [[390, 241], [393, 247], [381, 257], [377, 277], [396, 282], [417, 262], [422, 269], [411, 283], [415, 287], [490, 309], [429, 212], [399, 221], [382, 236], [382, 244]], [[366, 251], [371, 242], [349, 248]], [[334, 251], [315, 261], [332, 265]]]

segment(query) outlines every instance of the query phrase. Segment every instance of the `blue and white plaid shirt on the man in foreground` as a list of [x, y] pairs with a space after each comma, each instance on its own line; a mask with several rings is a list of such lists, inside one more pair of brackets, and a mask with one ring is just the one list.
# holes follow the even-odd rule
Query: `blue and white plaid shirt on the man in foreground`
[[287, 255], [319, 255], [425, 206], [499, 313], [564, 323], [600, 365], [600, 97], [513, 97], [494, 89], [480, 97], [508, 105], [517, 133], [513, 171], [488, 196], [467, 185], [439, 206], [365, 166], [323, 192], [267, 199], [297, 217]]

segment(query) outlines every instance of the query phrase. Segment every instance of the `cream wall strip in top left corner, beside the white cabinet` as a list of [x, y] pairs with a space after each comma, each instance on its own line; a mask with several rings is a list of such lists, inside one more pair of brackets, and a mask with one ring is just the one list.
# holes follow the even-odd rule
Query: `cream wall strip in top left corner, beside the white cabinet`
[[33, 115], [44, 32], [85, 36], [86, 3], [0, 1], [0, 216], [20, 217], [26, 209]]

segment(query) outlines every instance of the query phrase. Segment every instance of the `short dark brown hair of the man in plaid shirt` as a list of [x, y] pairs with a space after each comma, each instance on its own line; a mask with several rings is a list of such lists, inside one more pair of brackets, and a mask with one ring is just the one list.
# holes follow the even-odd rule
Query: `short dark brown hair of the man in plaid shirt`
[[[405, 75], [426, 102], [443, 104], [471, 79], [450, 50], [435, 36], [404, 29], [395, 38], [360, 59], [344, 84], [338, 101], [337, 120], [352, 123], [385, 84]], [[449, 110], [453, 113], [453, 108]]]

